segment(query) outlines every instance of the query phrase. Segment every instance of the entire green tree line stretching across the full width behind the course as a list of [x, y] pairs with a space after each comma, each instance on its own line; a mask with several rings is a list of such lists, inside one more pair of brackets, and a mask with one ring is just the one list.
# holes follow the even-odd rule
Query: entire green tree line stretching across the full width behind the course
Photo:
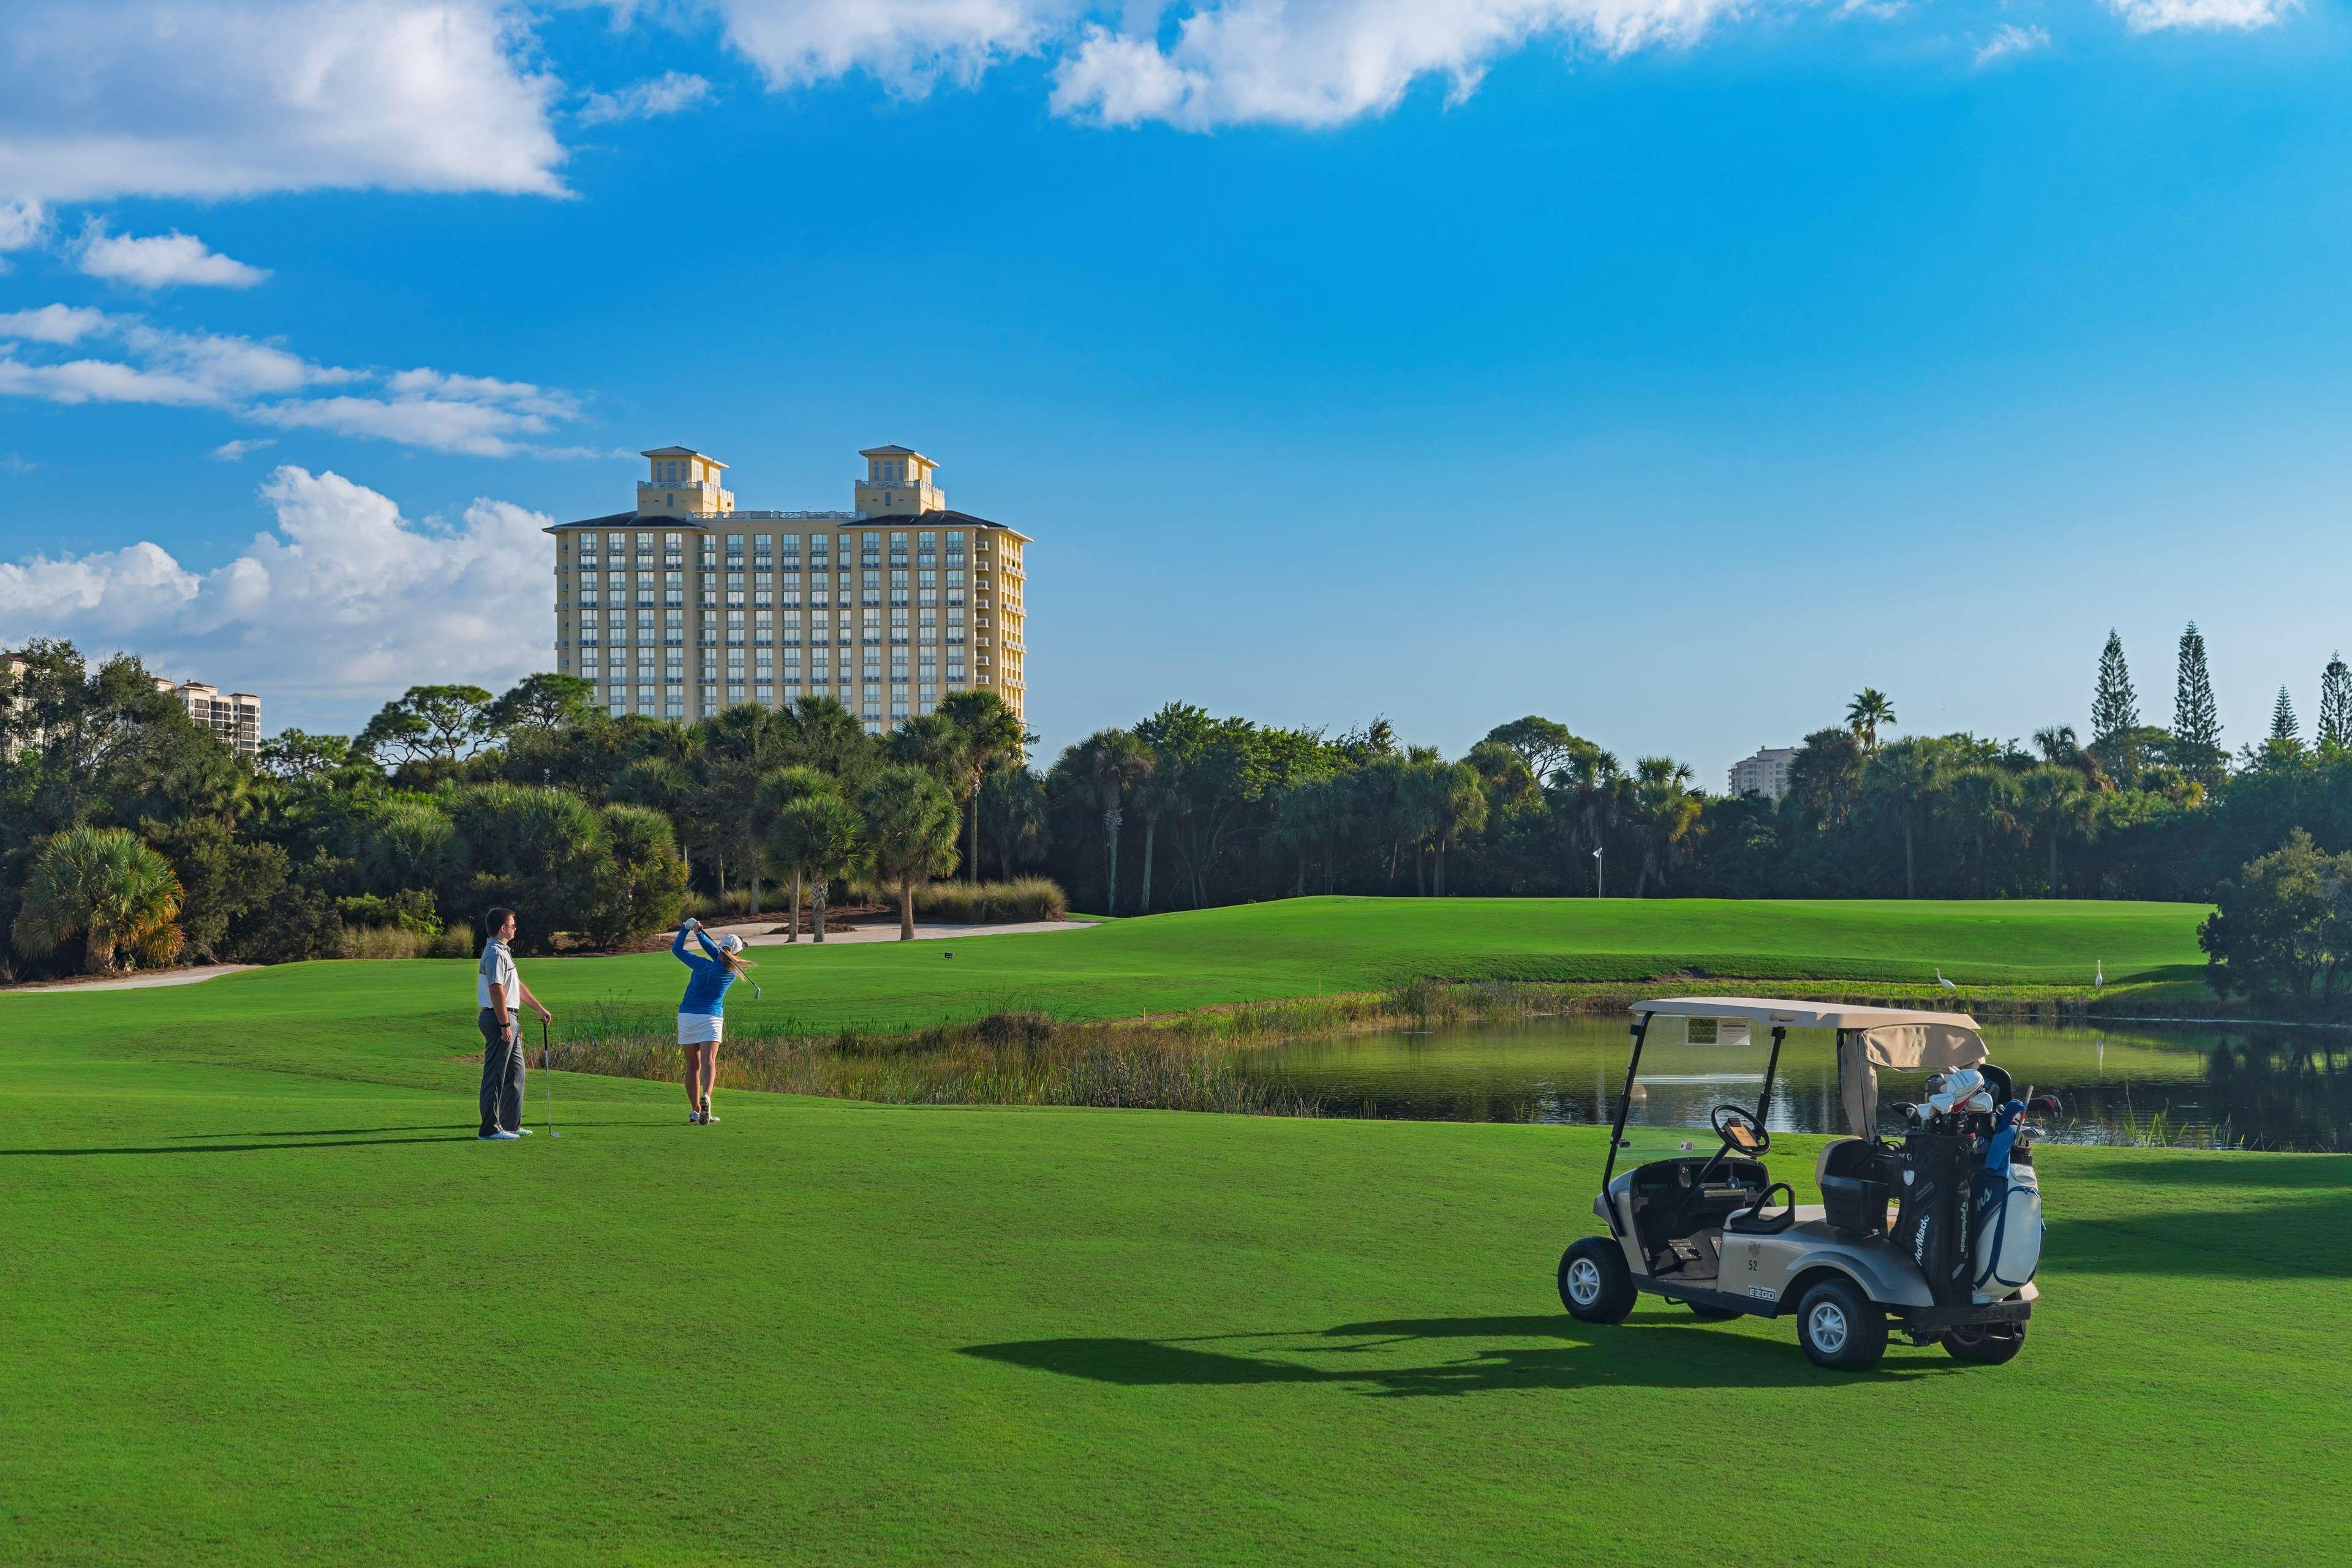
[[[2143, 719], [2110, 635], [2089, 738], [1900, 733], [1865, 686], [1804, 736], [1780, 799], [1703, 790], [1675, 757], [1623, 762], [1541, 715], [1446, 757], [1385, 719], [1331, 736], [1167, 703], [1040, 769], [988, 693], [868, 736], [830, 698], [607, 717], [562, 675], [416, 686], [358, 736], [289, 729], [245, 766], [136, 661], [35, 644], [0, 705], [0, 931], [16, 973], [308, 957], [487, 903], [536, 922], [527, 945], [623, 945], [689, 889], [781, 903], [797, 929], [849, 877], [889, 884], [910, 931], [927, 879], [983, 867], [1044, 872], [1105, 914], [1301, 893], [2201, 903], [2256, 886], [2241, 867], [2296, 830], [2352, 851], [2340, 658], [2317, 712], [2305, 741], [2281, 691], [2270, 733], [2225, 750], [2192, 625], [2169, 726]], [[106, 914], [106, 886], [148, 893]]]

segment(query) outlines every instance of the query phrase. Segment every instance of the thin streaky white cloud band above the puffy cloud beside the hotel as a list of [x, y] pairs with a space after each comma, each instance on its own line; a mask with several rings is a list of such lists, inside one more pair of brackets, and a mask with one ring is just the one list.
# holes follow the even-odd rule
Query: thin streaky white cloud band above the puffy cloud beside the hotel
[[[75, 346], [85, 336], [111, 339], [122, 357], [66, 360], [40, 350], [28, 357], [19, 348]], [[367, 383], [374, 388], [367, 390]], [[555, 388], [428, 367], [395, 374], [341, 369], [278, 343], [172, 331], [136, 315], [78, 306], [0, 315], [0, 397], [221, 409], [280, 430], [332, 430], [473, 456], [604, 456], [534, 440], [581, 416], [579, 400]], [[242, 456], [252, 447], [228, 442], [214, 456]]]

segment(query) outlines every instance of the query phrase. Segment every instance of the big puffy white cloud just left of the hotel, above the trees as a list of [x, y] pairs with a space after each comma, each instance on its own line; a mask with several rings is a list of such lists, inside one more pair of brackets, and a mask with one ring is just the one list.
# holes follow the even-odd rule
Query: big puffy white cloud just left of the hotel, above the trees
[[329, 708], [358, 724], [412, 684], [499, 689], [546, 670], [550, 517], [475, 501], [449, 527], [416, 524], [365, 484], [278, 468], [261, 487], [275, 527], [230, 562], [193, 571], [153, 543], [0, 562], [0, 639], [129, 639], [151, 663]]

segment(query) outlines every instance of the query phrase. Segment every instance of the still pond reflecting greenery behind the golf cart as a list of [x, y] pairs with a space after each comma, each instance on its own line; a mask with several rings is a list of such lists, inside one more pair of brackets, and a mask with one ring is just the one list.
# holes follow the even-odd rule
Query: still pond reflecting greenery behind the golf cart
[[[1762, 1032], [1759, 1032], [1762, 1034]], [[1623, 1016], [1449, 1025], [1343, 1034], [1247, 1053], [1244, 1077], [1315, 1095], [1324, 1114], [1402, 1121], [1606, 1121], [1625, 1077]], [[1987, 1025], [1985, 1046], [2025, 1093], [2056, 1093], [2053, 1143], [2251, 1150], [2352, 1147], [2352, 1034], [2260, 1027]], [[1924, 1074], [1879, 1074], [1879, 1121], [1919, 1100]], [[1705, 1124], [1717, 1100], [1755, 1100], [1748, 1084], [1656, 1084], [1651, 1121]], [[1689, 1114], [1682, 1114], [1682, 1112]], [[1773, 1131], [1844, 1133], [1837, 1046], [1825, 1030], [1790, 1030], [1773, 1084]]]

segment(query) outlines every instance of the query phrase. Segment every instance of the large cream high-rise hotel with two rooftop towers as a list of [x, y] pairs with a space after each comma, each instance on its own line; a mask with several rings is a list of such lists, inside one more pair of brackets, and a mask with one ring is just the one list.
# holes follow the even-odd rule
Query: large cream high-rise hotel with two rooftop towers
[[1023, 712], [1028, 536], [950, 512], [936, 463], [873, 447], [849, 512], [739, 512], [724, 463], [656, 447], [637, 510], [555, 536], [555, 665], [621, 717], [833, 696], [866, 729], [995, 691]]

